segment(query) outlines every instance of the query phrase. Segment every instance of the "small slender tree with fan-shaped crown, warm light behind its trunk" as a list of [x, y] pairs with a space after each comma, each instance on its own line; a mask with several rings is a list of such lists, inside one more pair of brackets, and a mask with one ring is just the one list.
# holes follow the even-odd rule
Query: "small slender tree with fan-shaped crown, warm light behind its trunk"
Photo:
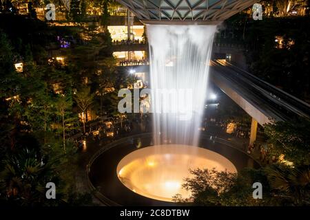
[[74, 100], [76, 101], [77, 106], [82, 111], [83, 131], [85, 133], [85, 122], [87, 120], [86, 111], [94, 100], [94, 94], [90, 93], [90, 87], [82, 87], [81, 89], [79, 89], [79, 91], [76, 92]]

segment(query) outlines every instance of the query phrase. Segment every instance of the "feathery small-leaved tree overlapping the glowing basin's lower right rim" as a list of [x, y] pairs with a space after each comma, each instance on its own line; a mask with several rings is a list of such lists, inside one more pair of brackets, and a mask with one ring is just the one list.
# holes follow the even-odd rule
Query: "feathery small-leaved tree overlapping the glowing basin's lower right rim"
[[[198, 206], [260, 206], [269, 203], [269, 185], [262, 170], [246, 168], [239, 173], [213, 169], [189, 170], [193, 177], [187, 177], [182, 185], [191, 192], [189, 199], [180, 195], [174, 201], [194, 203]], [[263, 199], [253, 198], [254, 182], [264, 186]]]

